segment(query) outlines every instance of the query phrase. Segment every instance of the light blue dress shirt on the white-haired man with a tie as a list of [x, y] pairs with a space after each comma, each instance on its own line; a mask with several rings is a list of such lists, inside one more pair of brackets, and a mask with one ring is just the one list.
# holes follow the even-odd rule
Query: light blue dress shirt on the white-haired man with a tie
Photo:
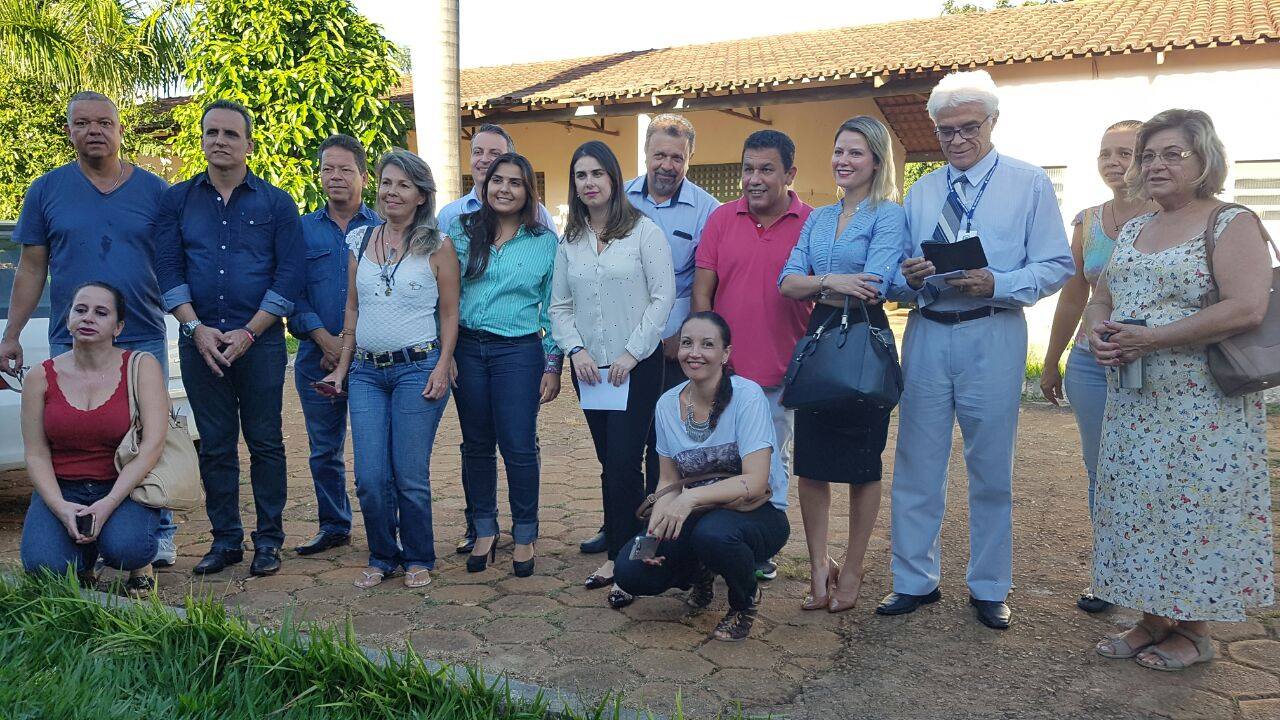
[[[1062, 214], [1053, 196], [1053, 183], [1043, 169], [1000, 155], [995, 150], [968, 170], [945, 165], [924, 176], [906, 196], [906, 224], [911, 236], [910, 256], [919, 258], [920, 243], [933, 237], [947, 201], [947, 169], [951, 179], [966, 176], [970, 187], [996, 168], [991, 184], [974, 209], [973, 231], [982, 238], [987, 269], [996, 278], [992, 297], [969, 297], [954, 287], [934, 291], [925, 284], [911, 290], [901, 268], [890, 288], [891, 300], [915, 302], [932, 310], [961, 313], [977, 307], [1027, 307], [1050, 296], [1075, 274], [1075, 261], [1066, 241]], [[969, 201], [973, 201], [970, 193]]]

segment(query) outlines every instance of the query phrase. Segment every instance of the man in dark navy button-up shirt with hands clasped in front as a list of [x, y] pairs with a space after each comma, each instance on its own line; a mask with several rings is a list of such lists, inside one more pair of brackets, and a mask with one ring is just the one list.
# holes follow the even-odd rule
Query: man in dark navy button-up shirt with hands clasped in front
[[178, 356], [200, 429], [212, 547], [195, 573], [239, 562], [239, 455], [244, 433], [257, 507], [250, 573], [280, 569], [285, 470], [280, 406], [288, 360], [280, 318], [302, 287], [298, 209], [248, 172], [253, 120], [218, 100], [200, 120], [209, 169], [165, 192], [156, 223], [156, 278], [182, 324]]

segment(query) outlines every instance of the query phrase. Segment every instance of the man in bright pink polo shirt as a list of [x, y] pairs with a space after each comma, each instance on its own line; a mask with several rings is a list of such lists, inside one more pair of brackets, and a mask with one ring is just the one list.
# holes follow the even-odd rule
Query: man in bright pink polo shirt
[[790, 190], [795, 143], [763, 129], [742, 145], [742, 197], [716, 209], [698, 245], [692, 310], [714, 310], [733, 333], [733, 372], [769, 398], [782, 465], [791, 471], [791, 418], [782, 407], [782, 375], [813, 302], [778, 292], [778, 275], [813, 208]]

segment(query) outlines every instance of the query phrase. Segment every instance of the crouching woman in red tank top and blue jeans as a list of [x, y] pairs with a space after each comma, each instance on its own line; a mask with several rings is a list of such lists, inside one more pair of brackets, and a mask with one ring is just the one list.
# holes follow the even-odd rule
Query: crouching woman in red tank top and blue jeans
[[[150, 571], [160, 511], [129, 498], [164, 447], [169, 397], [160, 363], [143, 354], [137, 366], [142, 442], [137, 459], [115, 469], [115, 448], [131, 427], [131, 352], [114, 346], [124, 329], [124, 297], [106, 284], [82, 284], [72, 296], [67, 329], [72, 351], [46, 360], [22, 392], [22, 438], [35, 486], [22, 528], [28, 573], [92, 575], [99, 555], [128, 570], [128, 588], [155, 588]], [[87, 519], [86, 519], [87, 518]]]

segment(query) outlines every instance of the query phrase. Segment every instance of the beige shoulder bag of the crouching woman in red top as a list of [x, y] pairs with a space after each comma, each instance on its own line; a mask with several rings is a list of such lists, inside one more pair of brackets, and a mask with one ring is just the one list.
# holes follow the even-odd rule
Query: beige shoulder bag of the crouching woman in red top
[[[124, 434], [115, 450], [115, 469], [120, 470], [138, 456], [142, 443], [142, 413], [138, 402], [138, 361], [143, 352], [129, 356], [129, 432]], [[200, 484], [200, 459], [196, 445], [187, 433], [187, 419], [169, 409], [169, 424], [165, 428], [164, 450], [155, 468], [133, 488], [129, 497], [147, 507], [168, 507], [188, 511], [205, 503], [205, 488]]]

